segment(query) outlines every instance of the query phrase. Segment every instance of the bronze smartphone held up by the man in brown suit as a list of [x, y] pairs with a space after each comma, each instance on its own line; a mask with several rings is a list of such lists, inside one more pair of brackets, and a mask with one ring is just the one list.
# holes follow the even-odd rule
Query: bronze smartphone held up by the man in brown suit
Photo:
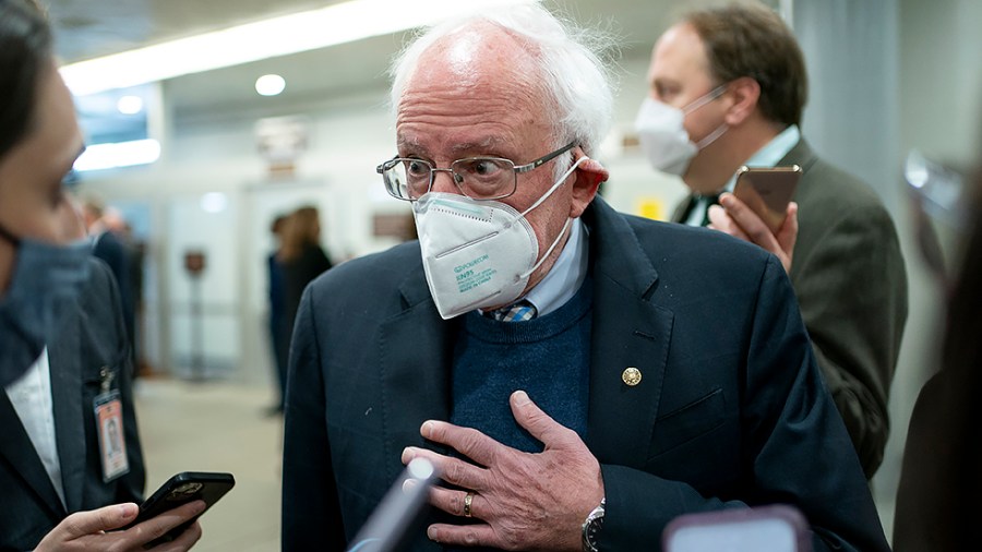
[[788, 203], [801, 179], [801, 167], [740, 167], [733, 195], [746, 204], [777, 233], [785, 224]]

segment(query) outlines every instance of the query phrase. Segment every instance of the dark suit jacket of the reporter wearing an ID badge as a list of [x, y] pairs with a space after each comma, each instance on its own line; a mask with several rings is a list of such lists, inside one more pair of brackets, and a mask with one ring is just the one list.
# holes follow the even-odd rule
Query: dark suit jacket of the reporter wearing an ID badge
[[[77, 302], [63, 307], [48, 343], [55, 442], [65, 504], [41, 464], [16, 410], [0, 389], [0, 550], [33, 550], [71, 513], [143, 497], [144, 468], [131, 392], [132, 365], [109, 269], [91, 260], [92, 275]], [[115, 372], [120, 392], [129, 473], [103, 482], [93, 400], [100, 370]]]

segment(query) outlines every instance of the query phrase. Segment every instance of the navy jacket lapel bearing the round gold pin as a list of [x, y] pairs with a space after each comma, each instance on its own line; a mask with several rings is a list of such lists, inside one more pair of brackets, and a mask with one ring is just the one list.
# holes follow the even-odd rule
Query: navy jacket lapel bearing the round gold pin
[[[640, 468], [661, 398], [673, 315], [650, 302], [658, 274], [627, 223], [595, 200], [590, 239], [594, 327], [587, 445], [601, 461]], [[642, 380], [628, 385], [624, 371]]]

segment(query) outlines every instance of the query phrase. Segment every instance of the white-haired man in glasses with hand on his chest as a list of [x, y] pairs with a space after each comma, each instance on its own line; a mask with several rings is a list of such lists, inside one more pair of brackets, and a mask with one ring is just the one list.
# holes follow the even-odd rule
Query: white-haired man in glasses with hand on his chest
[[683, 513], [790, 502], [886, 550], [780, 263], [612, 211], [611, 94], [538, 5], [397, 61], [379, 166], [419, 241], [315, 280], [286, 406], [284, 550], [342, 550], [403, 463], [443, 473], [412, 550], [658, 550]]

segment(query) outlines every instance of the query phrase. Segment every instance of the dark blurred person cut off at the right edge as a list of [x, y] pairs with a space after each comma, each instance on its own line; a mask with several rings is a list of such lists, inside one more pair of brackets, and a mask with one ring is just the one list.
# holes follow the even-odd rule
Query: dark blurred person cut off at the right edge
[[[978, 396], [982, 389], [982, 172], [957, 205], [945, 205], [967, 228], [961, 266], [947, 301], [941, 370], [918, 395], [903, 452], [897, 509], [896, 552], [948, 552], [974, 548], [982, 506], [982, 444]], [[938, 275], [935, 240], [925, 260]], [[947, 287], [950, 286], [950, 287]], [[978, 545], [978, 544], [975, 544]]]

